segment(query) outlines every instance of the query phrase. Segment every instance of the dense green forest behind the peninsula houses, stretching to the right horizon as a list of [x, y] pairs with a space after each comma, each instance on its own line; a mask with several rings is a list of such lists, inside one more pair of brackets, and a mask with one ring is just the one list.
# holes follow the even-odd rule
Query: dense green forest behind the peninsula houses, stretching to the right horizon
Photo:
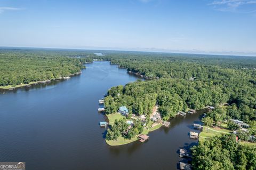
[[111, 88], [107, 97], [110, 102], [105, 104], [107, 114], [125, 105], [134, 114], [148, 115], [157, 102], [166, 120], [179, 110], [228, 103], [227, 111], [222, 112], [225, 115], [218, 120], [256, 120], [256, 58], [155, 55], [110, 53], [100, 57], [139, 76], [151, 77], [145, 82]]

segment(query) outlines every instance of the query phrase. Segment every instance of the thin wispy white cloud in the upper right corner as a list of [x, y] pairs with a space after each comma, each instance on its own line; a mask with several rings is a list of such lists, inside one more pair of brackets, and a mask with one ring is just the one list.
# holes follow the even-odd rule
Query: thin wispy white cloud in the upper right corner
[[[209, 5], [212, 5], [214, 9], [219, 11], [231, 11], [242, 13], [252, 13], [255, 12], [256, 9], [255, 0], [215, 0]], [[239, 7], [250, 7], [250, 10], [238, 11]], [[254, 7], [254, 9], [252, 9], [252, 7]]]

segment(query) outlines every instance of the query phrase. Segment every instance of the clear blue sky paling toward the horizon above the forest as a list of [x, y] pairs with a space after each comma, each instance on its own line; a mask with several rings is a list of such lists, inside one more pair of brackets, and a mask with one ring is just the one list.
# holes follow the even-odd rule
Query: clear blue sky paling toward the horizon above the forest
[[256, 56], [256, 0], [0, 0], [0, 46]]

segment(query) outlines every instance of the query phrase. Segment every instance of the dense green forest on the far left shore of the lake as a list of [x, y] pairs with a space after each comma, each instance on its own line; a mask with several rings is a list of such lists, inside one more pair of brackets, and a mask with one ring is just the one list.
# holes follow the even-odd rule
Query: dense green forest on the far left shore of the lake
[[66, 77], [92, 62], [85, 53], [72, 51], [0, 49], [0, 86], [28, 84]]

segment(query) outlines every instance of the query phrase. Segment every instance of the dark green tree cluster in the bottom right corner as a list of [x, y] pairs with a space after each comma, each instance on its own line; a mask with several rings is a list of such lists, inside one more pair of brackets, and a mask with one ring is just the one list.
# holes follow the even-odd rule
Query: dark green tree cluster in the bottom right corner
[[253, 170], [256, 167], [256, 146], [237, 143], [234, 134], [211, 137], [191, 150], [194, 169]]

